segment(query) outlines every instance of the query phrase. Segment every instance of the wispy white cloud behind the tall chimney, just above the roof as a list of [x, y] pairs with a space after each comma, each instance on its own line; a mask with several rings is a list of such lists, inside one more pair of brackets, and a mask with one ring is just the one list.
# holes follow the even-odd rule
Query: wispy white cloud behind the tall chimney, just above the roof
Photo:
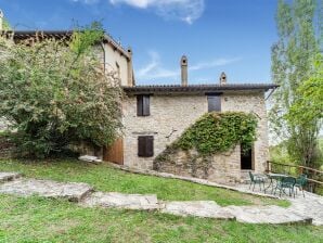
[[[160, 55], [156, 51], [150, 51], [150, 62], [145, 64], [143, 67], [139, 68], [135, 73], [137, 77], [140, 79], [155, 79], [155, 78], [179, 78], [180, 68], [169, 69], [165, 68], [160, 62]], [[241, 57], [232, 57], [232, 59], [215, 59], [209, 62], [201, 62], [197, 64], [193, 64], [190, 66], [189, 71], [196, 72], [202, 69], [209, 69], [217, 66], [225, 66], [231, 63], [235, 63], [241, 61]]]

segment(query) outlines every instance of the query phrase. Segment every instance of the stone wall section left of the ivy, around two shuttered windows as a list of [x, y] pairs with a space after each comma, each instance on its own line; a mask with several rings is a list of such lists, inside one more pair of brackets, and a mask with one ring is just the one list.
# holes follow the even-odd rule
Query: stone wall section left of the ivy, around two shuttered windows
[[[152, 95], [151, 115], [137, 116], [137, 98], [124, 103], [124, 164], [137, 168], [153, 168], [153, 161], [167, 144], [207, 112], [205, 95]], [[138, 136], [154, 136], [154, 156], [139, 157]]]

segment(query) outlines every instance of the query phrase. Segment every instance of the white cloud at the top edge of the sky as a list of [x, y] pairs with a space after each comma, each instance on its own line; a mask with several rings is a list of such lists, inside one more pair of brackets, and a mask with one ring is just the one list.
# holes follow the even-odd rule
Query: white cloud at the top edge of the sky
[[204, 0], [109, 0], [114, 5], [128, 4], [139, 9], [153, 9], [166, 20], [180, 20], [192, 24], [204, 12]]

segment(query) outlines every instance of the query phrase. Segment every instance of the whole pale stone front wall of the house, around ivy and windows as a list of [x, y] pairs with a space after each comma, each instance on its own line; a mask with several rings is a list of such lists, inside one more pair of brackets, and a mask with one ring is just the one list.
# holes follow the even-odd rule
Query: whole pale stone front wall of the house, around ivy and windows
[[[254, 168], [263, 172], [268, 158], [268, 128], [263, 91], [228, 91], [221, 95], [221, 112], [237, 111], [254, 113], [259, 118], [257, 141], [254, 144]], [[137, 98], [130, 95], [124, 103], [124, 164], [133, 168], [152, 169], [154, 158], [173, 142], [190, 125], [208, 112], [205, 94], [154, 94], [151, 95], [151, 115], [137, 116]], [[154, 156], [138, 156], [138, 137], [154, 136]], [[179, 156], [179, 163], [183, 158]], [[181, 164], [181, 163], [180, 163]], [[167, 167], [167, 168], [166, 168]], [[179, 167], [164, 167], [181, 176], [190, 172]], [[208, 177], [211, 181], [233, 182], [246, 175], [241, 170], [240, 146], [233, 151], [215, 155]]]

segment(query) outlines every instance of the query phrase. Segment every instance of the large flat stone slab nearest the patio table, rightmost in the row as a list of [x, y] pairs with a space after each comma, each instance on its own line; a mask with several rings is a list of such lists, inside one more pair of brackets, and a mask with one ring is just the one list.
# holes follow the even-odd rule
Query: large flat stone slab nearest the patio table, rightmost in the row
[[228, 206], [224, 210], [240, 222], [248, 223], [311, 223], [308, 216], [279, 206]]

